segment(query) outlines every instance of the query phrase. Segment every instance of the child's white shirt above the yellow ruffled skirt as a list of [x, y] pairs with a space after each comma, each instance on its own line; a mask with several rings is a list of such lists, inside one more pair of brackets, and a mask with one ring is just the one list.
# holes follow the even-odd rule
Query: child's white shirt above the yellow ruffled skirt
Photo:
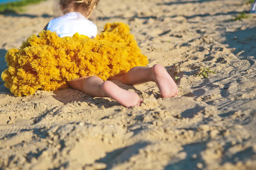
[[79, 12], [70, 12], [50, 20], [47, 30], [57, 32], [59, 37], [73, 36], [76, 32], [90, 38], [96, 37], [97, 26]]

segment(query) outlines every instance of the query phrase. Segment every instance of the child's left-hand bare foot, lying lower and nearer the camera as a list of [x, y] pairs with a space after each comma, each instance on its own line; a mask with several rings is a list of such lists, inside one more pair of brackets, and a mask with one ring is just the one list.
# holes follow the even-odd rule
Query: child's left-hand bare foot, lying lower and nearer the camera
[[139, 106], [142, 103], [141, 98], [135, 92], [127, 91], [117, 84], [106, 80], [102, 83], [102, 90], [105, 91], [106, 95], [122, 104], [124, 107]]

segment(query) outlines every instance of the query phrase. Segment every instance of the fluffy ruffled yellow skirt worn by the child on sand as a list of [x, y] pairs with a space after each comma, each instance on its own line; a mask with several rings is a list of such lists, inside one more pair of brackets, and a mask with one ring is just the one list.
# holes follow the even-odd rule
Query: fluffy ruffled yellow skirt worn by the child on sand
[[78, 33], [60, 38], [55, 32], [41, 31], [28, 37], [20, 49], [8, 50], [5, 57], [9, 67], [1, 78], [15, 96], [68, 88], [67, 81], [82, 76], [106, 80], [148, 63], [124, 23], [106, 24], [94, 39]]

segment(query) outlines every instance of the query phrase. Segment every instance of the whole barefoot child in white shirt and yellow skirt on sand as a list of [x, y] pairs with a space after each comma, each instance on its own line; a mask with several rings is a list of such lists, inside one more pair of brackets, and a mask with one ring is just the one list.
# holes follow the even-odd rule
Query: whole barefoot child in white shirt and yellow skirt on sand
[[141, 104], [138, 94], [110, 80], [130, 85], [153, 81], [162, 97], [177, 95], [177, 85], [164, 67], [146, 67], [148, 59], [128, 25], [107, 23], [97, 35], [96, 25], [87, 18], [98, 2], [60, 0], [63, 16], [52, 19], [38, 36], [28, 37], [20, 49], [7, 51], [9, 67], [1, 78], [15, 96], [69, 85], [91, 96], [110, 97], [125, 107]]

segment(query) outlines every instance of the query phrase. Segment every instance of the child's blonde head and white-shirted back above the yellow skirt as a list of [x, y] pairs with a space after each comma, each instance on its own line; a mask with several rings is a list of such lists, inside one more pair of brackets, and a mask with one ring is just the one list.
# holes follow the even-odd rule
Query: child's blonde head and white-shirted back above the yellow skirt
[[97, 26], [88, 20], [100, 0], [60, 0], [63, 16], [52, 19], [44, 30], [57, 32], [59, 37], [73, 36], [76, 32], [88, 37], [97, 35]]

